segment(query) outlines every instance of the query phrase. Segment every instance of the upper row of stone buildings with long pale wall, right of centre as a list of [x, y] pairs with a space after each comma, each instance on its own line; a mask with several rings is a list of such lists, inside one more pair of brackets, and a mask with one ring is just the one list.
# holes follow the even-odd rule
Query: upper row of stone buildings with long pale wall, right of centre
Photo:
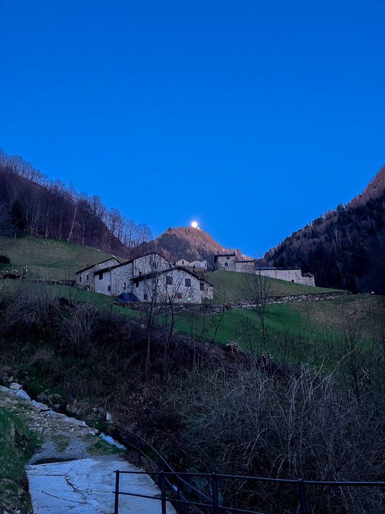
[[315, 286], [314, 276], [311, 273], [302, 274], [300, 269], [278, 269], [274, 266], [258, 267], [255, 260], [237, 259], [235, 252], [216, 253], [214, 255], [214, 266], [216, 269], [238, 271], [240, 273], [261, 273], [263, 276], [272, 279]]

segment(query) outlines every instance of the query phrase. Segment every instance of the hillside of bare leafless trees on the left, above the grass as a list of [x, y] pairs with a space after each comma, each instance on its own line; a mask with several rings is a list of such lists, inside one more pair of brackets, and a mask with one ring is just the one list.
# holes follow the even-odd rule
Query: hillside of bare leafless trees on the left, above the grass
[[125, 256], [151, 240], [146, 224], [137, 224], [99, 196], [78, 193], [51, 180], [17, 155], [0, 150], [0, 236], [27, 233], [56, 237]]

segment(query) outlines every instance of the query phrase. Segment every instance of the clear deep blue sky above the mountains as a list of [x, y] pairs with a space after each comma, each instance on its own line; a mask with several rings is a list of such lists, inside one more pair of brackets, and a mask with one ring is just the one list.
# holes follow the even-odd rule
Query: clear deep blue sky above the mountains
[[0, 146], [265, 251], [385, 162], [385, 2], [0, 1]]

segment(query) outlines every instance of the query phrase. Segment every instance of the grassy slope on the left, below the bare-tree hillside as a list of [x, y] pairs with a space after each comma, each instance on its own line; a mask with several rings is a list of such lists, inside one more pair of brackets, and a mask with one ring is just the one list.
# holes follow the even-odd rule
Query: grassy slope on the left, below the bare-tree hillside
[[73, 280], [75, 271], [96, 264], [111, 255], [96, 248], [68, 241], [26, 236], [0, 238], [0, 254], [7, 255], [19, 272], [28, 266], [28, 278]]

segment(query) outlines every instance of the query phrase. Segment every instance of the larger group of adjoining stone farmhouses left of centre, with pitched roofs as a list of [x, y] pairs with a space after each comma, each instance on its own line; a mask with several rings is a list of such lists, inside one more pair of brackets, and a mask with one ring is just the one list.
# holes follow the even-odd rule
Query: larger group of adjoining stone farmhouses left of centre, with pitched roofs
[[[181, 270], [178, 273], [178, 279], [177, 276], [174, 279], [172, 274], [175, 269]], [[171, 272], [171, 279], [164, 279], [163, 273], [165, 271]], [[171, 280], [171, 283], [168, 284], [167, 282], [166, 285], [172, 287], [164, 289], [164, 280]], [[150, 291], [146, 289], [154, 283], [156, 283], [157, 288], [156, 290], [151, 289], [150, 294]], [[80, 289], [99, 292], [108, 296], [119, 296], [122, 292], [130, 292], [141, 301], [150, 301], [153, 297], [160, 300], [166, 298], [167, 295], [169, 300], [176, 303], [182, 303], [183, 301], [201, 303], [202, 298], [213, 298], [213, 286], [211, 284], [185, 267], [172, 267], [157, 252], [142, 255], [125, 263], [120, 263], [118, 259], [111, 258], [86, 267], [76, 272], [75, 284]], [[199, 295], [196, 291], [199, 291]]]

